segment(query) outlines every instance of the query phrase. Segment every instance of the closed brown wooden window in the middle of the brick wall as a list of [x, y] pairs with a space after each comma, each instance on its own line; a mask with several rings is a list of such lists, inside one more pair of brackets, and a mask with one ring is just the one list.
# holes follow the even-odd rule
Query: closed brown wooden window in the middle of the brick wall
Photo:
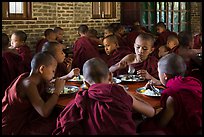
[[116, 17], [115, 2], [92, 2], [92, 18], [111, 19]]

